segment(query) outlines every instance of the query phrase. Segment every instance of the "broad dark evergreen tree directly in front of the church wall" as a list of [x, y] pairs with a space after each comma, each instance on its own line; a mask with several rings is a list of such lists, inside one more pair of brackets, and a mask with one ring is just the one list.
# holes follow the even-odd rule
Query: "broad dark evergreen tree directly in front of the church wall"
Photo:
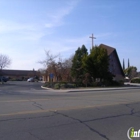
[[93, 79], [107, 79], [109, 72], [109, 57], [107, 50], [98, 46], [91, 49], [89, 55], [83, 57], [83, 68]]

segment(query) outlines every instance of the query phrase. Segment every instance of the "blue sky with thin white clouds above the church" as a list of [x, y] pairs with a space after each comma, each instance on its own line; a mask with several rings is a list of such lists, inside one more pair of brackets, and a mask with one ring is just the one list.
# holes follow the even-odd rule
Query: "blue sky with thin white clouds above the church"
[[139, 0], [0, 0], [0, 53], [9, 69], [38, 70], [44, 50], [69, 58], [83, 44], [116, 48], [140, 71]]

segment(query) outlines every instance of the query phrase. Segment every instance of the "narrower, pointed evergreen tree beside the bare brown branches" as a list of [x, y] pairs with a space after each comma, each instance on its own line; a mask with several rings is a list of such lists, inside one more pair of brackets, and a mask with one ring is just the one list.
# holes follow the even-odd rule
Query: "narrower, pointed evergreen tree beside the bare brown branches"
[[82, 45], [81, 48], [79, 47], [75, 51], [75, 55], [72, 59], [71, 75], [76, 81], [81, 82], [85, 74], [84, 69], [82, 67], [82, 59], [87, 54], [88, 52], [85, 45]]

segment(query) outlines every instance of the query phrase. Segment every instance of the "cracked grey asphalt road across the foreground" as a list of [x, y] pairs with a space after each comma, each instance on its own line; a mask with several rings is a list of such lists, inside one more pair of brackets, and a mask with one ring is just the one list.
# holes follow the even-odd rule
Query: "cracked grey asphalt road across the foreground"
[[0, 85], [0, 140], [127, 140], [130, 127], [140, 129], [139, 88], [54, 92], [40, 86]]

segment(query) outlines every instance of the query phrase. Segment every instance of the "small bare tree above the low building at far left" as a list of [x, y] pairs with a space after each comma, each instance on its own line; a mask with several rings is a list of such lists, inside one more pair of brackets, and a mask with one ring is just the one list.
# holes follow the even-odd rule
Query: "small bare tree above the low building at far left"
[[11, 59], [4, 54], [0, 54], [0, 67], [1, 69], [8, 67], [11, 64]]

